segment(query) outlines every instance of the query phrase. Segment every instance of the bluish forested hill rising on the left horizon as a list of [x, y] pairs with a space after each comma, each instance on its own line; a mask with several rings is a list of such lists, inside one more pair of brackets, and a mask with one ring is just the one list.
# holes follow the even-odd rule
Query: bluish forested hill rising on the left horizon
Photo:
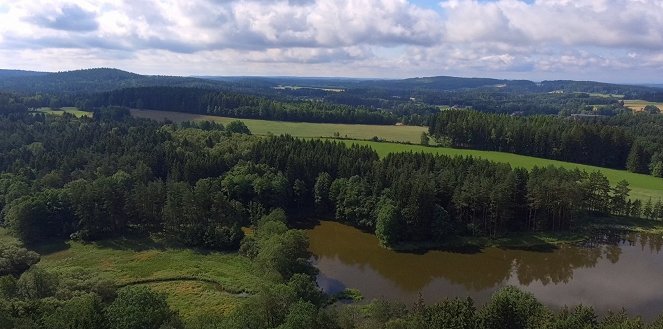
[[218, 89], [227, 84], [198, 78], [140, 75], [111, 68], [57, 73], [9, 71], [0, 73], [0, 90], [22, 94], [84, 94], [132, 87], [174, 86]]

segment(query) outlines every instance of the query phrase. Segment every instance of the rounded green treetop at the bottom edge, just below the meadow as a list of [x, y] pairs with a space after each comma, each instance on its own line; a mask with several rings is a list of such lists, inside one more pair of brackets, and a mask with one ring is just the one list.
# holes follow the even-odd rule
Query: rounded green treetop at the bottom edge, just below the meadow
[[168, 308], [166, 298], [146, 287], [127, 287], [105, 311], [109, 329], [182, 328], [176, 313]]

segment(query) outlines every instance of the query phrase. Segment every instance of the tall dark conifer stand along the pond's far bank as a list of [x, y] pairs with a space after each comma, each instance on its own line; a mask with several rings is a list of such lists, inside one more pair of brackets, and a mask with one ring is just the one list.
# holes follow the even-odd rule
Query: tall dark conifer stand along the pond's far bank
[[374, 160], [343, 150], [340, 144], [274, 137], [256, 143], [252, 156], [312, 191], [300, 208], [374, 230], [386, 245], [565, 230], [583, 213], [640, 216], [642, 210], [639, 201], [629, 200], [627, 182], [611, 187], [598, 172], [556, 167], [528, 172], [473, 158], [412, 153]]

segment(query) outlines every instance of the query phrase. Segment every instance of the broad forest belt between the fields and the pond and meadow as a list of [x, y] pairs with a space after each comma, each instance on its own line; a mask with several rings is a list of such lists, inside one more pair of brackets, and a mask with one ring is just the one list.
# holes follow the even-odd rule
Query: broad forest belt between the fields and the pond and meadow
[[162, 127], [116, 108], [94, 120], [4, 118], [5, 224], [26, 242], [142, 232], [236, 250], [240, 227], [275, 207], [333, 216], [387, 245], [566, 230], [586, 212], [643, 209], [626, 182], [611, 187], [600, 173], [426, 154], [379, 159], [368, 147], [247, 132], [241, 123]]

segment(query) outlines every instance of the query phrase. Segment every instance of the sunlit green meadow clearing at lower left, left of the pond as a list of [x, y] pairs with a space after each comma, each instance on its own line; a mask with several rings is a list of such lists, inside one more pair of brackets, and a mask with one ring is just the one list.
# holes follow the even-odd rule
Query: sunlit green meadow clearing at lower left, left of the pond
[[[0, 231], [0, 237], [3, 233]], [[250, 261], [237, 254], [197, 252], [130, 239], [67, 242], [53, 249], [38, 250], [40, 267], [64, 274], [88, 271], [118, 285], [148, 285], [164, 292], [185, 321], [204, 314], [227, 314], [244, 298], [236, 292], [253, 291], [263, 282]]]

